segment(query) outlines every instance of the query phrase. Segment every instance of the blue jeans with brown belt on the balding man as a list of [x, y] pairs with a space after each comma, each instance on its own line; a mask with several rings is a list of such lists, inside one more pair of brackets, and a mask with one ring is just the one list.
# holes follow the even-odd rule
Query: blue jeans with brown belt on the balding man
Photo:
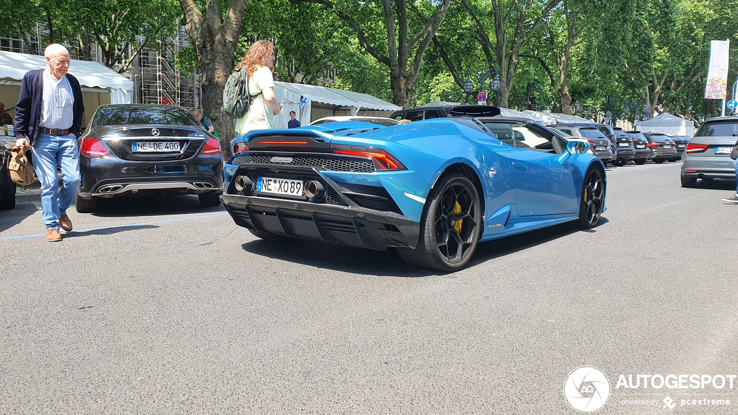
[[[59, 217], [66, 214], [80, 186], [80, 154], [77, 137], [40, 133], [32, 146], [33, 168], [41, 182], [41, 217], [46, 229], [59, 229]], [[64, 181], [59, 189], [56, 167]]]

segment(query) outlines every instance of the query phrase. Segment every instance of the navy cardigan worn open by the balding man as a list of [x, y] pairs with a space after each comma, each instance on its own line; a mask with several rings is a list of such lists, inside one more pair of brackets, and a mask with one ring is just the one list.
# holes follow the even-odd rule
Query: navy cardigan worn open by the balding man
[[[15, 105], [15, 138], [22, 139], [28, 137], [31, 144], [38, 135], [38, 127], [41, 124], [41, 100], [44, 98], [44, 71], [46, 69], [37, 69], [27, 72], [21, 82], [21, 94], [18, 97], [18, 104]], [[66, 80], [69, 86], [72, 86], [72, 94], [75, 96], [75, 103], [72, 106], [74, 119], [69, 133], [78, 136], [82, 130], [82, 117], [85, 114], [85, 105], [82, 102], [82, 88], [80, 81], [70, 74], [66, 74]]]

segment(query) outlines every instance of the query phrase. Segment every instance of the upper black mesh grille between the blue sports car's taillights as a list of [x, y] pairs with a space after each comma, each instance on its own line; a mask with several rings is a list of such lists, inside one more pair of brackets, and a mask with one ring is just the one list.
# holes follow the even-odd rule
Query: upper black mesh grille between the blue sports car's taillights
[[[279, 161], [274, 161], [277, 158]], [[292, 161], [286, 161], [292, 158]], [[281, 159], [281, 160], [280, 160]], [[309, 156], [302, 156], [299, 154], [293, 154], [290, 156], [279, 156], [276, 154], [244, 154], [242, 156], [235, 156], [233, 163], [236, 165], [246, 163], [261, 163], [261, 164], [285, 164], [292, 166], [308, 166], [308, 167], [322, 167], [325, 170], [334, 170], [337, 172], [373, 172], [374, 163], [368, 158], [350, 158], [340, 156], [329, 156], [329, 155], [317, 155], [311, 154]]]

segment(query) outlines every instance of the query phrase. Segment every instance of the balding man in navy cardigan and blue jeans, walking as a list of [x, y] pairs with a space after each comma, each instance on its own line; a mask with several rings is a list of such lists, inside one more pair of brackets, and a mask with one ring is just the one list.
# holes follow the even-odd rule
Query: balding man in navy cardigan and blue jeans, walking
[[[66, 209], [72, 204], [80, 184], [80, 156], [77, 135], [85, 108], [77, 78], [69, 71], [69, 52], [52, 43], [44, 50], [46, 69], [29, 71], [23, 77], [15, 107], [15, 144], [30, 142], [33, 168], [41, 182], [41, 216], [46, 240], [61, 241], [59, 228], [72, 230]], [[59, 189], [57, 166], [63, 185]]]

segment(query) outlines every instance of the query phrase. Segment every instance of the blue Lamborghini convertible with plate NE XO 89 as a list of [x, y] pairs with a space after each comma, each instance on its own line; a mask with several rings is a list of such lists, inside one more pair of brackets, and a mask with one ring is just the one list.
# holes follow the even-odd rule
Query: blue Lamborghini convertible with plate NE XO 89
[[588, 144], [529, 119], [346, 121], [253, 130], [231, 143], [221, 200], [265, 240], [385, 250], [438, 271], [477, 243], [604, 212], [604, 165]]

